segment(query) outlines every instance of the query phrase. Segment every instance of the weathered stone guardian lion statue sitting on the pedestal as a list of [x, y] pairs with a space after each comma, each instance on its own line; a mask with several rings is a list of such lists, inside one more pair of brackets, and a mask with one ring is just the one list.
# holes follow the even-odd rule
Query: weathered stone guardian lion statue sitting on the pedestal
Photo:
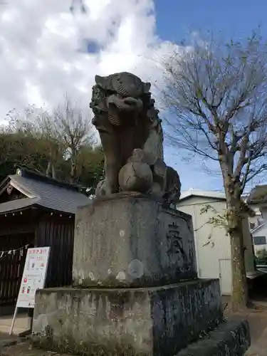
[[96, 195], [140, 192], [179, 201], [179, 175], [163, 157], [163, 133], [150, 83], [131, 73], [95, 76], [90, 108], [105, 155]]

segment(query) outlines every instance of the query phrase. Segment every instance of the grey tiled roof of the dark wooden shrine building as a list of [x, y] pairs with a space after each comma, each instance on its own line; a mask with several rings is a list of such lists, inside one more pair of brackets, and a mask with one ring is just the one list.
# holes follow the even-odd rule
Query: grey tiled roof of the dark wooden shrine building
[[79, 192], [78, 187], [43, 177], [41, 174], [20, 170], [19, 174], [10, 175], [8, 180], [9, 184], [25, 194], [26, 198], [0, 204], [0, 214], [32, 205], [75, 214], [78, 206], [90, 202], [85, 194]]

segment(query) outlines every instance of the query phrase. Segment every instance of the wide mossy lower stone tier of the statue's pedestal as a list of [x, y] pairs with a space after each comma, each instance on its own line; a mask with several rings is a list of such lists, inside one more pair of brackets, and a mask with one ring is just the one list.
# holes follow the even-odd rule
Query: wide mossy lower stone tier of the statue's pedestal
[[38, 290], [33, 339], [82, 355], [175, 355], [223, 318], [218, 280], [157, 288]]

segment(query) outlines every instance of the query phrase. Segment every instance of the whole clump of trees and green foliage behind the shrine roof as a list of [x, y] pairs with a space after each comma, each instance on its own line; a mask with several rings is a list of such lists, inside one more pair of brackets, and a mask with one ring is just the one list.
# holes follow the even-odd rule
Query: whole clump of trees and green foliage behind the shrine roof
[[79, 184], [93, 194], [103, 179], [103, 152], [95, 145], [89, 117], [68, 98], [64, 105], [53, 115], [34, 106], [23, 115], [11, 112], [9, 127], [0, 132], [1, 180], [21, 166]]

